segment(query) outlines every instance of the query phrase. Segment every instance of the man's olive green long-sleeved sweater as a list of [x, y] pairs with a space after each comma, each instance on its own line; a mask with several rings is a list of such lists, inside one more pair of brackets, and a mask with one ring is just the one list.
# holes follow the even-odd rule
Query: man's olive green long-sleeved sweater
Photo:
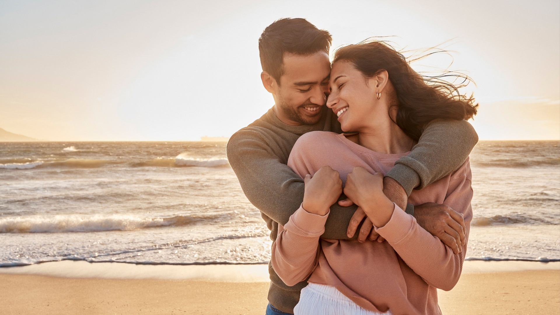
[[[289, 126], [269, 109], [261, 118], [237, 131], [227, 143], [231, 168], [245, 196], [260, 210], [273, 241], [278, 224], [286, 225], [304, 199], [304, 180], [287, 166], [287, 162], [294, 143], [310, 131], [342, 133], [332, 110], [323, 110], [317, 124]], [[399, 182], [410, 195], [412, 189], [423, 188], [458, 169], [477, 142], [477, 133], [468, 122], [436, 119], [424, 129], [412, 152], [396, 161], [386, 176]], [[323, 237], [348, 239], [346, 231], [354, 211], [356, 206], [331, 206]], [[270, 304], [283, 312], [293, 313], [293, 307], [300, 299], [300, 290], [307, 282], [287, 286], [272, 266], [269, 265], [268, 270]]]

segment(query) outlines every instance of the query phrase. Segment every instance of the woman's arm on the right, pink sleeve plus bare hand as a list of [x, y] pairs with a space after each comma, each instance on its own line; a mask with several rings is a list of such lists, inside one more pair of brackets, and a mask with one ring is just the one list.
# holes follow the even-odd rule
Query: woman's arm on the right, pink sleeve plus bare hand
[[[355, 198], [365, 205], [362, 206], [358, 203], [365, 208], [364, 211], [371, 221], [376, 226], [380, 226], [380, 228], [376, 228], [377, 233], [389, 242], [403, 261], [424, 281], [436, 288], [451, 290], [461, 275], [467, 242], [462, 246], [461, 252], [454, 254], [452, 249], [442, 243], [440, 239], [421, 228], [413, 216], [405, 214], [396, 205], [390, 206], [389, 209], [390, 201], [386, 197], [381, 196], [378, 200], [360, 199], [360, 193], [357, 192], [357, 188], [354, 188], [354, 183], [368, 185], [366, 182], [374, 183], [376, 179], [366, 179], [368, 175], [361, 170], [354, 172], [356, 174], [348, 175], [344, 192], [347, 195], [356, 196]], [[466, 161], [452, 175], [446, 192], [447, 197], [444, 200], [444, 205], [455, 209], [464, 216], [465, 240], [468, 240], [470, 221], [472, 220], [470, 201], [473, 197], [473, 190], [470, 178], [470, 166]], [[379, 187], [377, 191], [380, 191]], [[426, 193], [433, 192], [427, 191]]]

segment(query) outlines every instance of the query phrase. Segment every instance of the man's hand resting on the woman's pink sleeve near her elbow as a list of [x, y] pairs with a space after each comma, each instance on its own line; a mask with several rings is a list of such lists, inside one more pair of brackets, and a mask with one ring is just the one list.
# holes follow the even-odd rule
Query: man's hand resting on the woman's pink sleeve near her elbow
[[463, 215], [446, 205], [427, 202], [414, 207], [414, 217], [422, 228], [441, 239], [455, 254], [465, 245]]

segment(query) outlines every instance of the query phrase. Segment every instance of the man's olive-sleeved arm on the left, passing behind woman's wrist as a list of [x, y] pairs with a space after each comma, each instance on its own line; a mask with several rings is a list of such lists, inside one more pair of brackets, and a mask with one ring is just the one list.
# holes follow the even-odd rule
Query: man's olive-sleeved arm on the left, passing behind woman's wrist
[[[270, 219], [286, 225], [304, 200], [304, 180], [282, 163], [256, 130], [236, 132], [227, 144], [227, 158], [249, 201]], [[346, 230], [356, 208], [331, 206], [323, 237], [349, 239]]]

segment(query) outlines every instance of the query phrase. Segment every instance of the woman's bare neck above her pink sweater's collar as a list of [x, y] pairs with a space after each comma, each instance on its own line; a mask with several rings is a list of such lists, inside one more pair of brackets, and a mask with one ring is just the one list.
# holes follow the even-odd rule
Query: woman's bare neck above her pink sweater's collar
[[383, 154], [408, 152], [415, 143], [390, 119], [360, 131], [356, 140], [359, 145]]

